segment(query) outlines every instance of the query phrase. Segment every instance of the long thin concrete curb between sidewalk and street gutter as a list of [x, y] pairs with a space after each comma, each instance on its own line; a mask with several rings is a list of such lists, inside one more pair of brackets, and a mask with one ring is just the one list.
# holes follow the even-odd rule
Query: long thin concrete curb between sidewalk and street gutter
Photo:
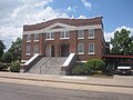
[[120, 88], [133, 88], [133, 86], [125, 84], [109, 84], [109, 83], [95, 83], [95, 82], [84, 82], [84, 81], [73, 81], [73, 80], [59, 80], [59, 79], [41, 79], [41, 78], [25, 78], [25, 77], [14, 77], [14, 76], [2, 76], [0, 78], [7, 79], [19, 79], [19, 80], [31, 80], [31, 81], [47, 81], [47, 82], [62, 82], [62, 83], [74, 83], [74, 84], [89, 84], [89, 86], [102, 86], [102, 87], [120, 87]]

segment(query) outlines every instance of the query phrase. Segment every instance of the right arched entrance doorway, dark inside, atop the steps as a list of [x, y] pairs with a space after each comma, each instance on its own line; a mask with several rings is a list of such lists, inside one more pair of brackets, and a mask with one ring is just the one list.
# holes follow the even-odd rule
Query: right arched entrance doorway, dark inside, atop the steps
[[70, 54], [70, 44], [62, 43], [61, 44], [61, 57], [69, 57], [69, 54]]

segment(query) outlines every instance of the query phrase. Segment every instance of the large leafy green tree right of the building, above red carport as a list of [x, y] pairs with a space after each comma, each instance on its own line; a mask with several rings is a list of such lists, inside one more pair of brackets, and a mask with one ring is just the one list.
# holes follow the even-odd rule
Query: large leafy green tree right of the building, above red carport
[[114, 32], [114, 38], [111, 39], [113, 54], [129, 56], [133, 54], [133, 37], [130, 36], [131, 31], [122, 29]]

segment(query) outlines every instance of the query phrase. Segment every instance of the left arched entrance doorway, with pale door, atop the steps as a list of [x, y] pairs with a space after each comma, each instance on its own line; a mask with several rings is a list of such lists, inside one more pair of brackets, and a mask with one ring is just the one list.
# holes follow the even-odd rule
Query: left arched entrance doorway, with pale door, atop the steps
[[48, 44], [45, 48], [45, 57], [54, 57], [54, 46]]

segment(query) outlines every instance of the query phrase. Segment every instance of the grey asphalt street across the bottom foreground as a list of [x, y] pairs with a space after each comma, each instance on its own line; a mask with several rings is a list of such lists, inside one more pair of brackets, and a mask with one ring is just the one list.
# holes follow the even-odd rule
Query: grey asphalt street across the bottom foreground
[[0, 100], [133, 100], [133, 96], [0, 82]]

